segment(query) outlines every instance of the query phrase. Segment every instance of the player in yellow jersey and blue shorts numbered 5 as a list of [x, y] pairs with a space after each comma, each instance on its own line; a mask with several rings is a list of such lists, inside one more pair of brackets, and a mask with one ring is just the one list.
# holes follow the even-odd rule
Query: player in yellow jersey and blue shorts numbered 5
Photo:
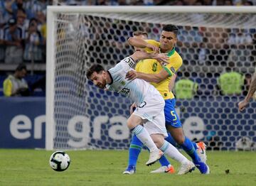
[[[175, 50], [177, 41], [178, 28], [174, 25], [166, 25], [161, 31], [160, 42], [155, 40], [143, 40], [140, 38], [129, 38], [129, 43], [136, 48], [144, 48], [147, 52], [168, 53], [169, 63], [161, 64], [156, 60], [147, 60], [139, 62], [137, 71], [127, 72], [127, 79], [133, 80], [139, 78], [151, 82], [156, 89], [159, 90], [165, 99], [164, 114], [166, 118], [166, 128], [171, 135], [166, 141], [171, 142], [174, 146], [183, 148], [193, 159], [196, 167], [202, 174], [210, 173], [208, 165], [206, 165], [206, 147], [204, 143], [193, 143], [183, 134], [181, 121], [175, 110], [175, 98], [172, 92], [169, 92], [169, 81], [171, 76], [181, 67], [182, 58]], [[200, 155], [200, 156], [199, 156]]]

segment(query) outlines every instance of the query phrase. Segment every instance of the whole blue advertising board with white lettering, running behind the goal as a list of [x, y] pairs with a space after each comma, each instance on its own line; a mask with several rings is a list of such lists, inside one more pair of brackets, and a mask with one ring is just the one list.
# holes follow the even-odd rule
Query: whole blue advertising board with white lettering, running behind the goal
[[[241, 113], [237, 106], [239, 100], [237, 97], [178, 100], [176, 111], [184, 133], [191, 140], [206, 142], [208, 149], [213, 150], [235, 150], [242, 137], [256, 143], [256, 102], [251, 102]], [[89, 110], [94, 104], [90, 105]], [[91, 111], [90, 117], [68, 118], [62, 133], [68, 136], [65, 141], [69, 148], [129, 148], [131, 135], [126, 126], [129, 113], [111, 110], [111, 115], [105, 112], [96, 115], [95, 111]], [[0, 148], [45, 148], [45, 114], [44, 97], [0, 97]]]

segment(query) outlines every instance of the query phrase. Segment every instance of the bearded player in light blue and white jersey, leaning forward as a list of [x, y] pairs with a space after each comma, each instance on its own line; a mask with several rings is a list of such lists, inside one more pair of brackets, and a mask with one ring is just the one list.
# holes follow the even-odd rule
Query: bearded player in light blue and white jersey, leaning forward
[[[195, 168], [195, 165], [183, 156], [174, 146], [164, 140], [167, 136], [164, 118], [164, 99], [161, 94], [144, 80], [127, 80], [126, 74], [138, 61], [152, 58], [166, 61], [165, 54], [144, 53], [137, 51], [110, 70], [104, 70], [101, 65], [92, 65], [87, 70], [87, 78], [97, 87], [119, 92], [132, 99], [138, 107], [127, 119], [127, 126], [137, 135], [144, 145], [149, 148], [149, 160], [146, 165], [155, 163], [163, 152], [181, 163], [178, 174], [185, 174]], [[144, 126], [142, 125], [144, 124]], [[159, 149], [161, 151], [159, 151]], [[185, 165], [185, 166], [184, 166]]]

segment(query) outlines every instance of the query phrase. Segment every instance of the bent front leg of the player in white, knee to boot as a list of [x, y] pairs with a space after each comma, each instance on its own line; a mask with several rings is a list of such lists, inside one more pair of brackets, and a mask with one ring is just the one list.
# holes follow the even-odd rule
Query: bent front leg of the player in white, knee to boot
[[135, 114], [129, 116], [129, 119], [127, 120], [127, 126], [132, 130], [133, 135], [136, 135], [137, 138], [149, 148], [150, 155], [146, 165], [151, 165], [161, 158], [162, 153], [159, 152], [159, 149], [156, 147], [151, 136], [149, 136], [149, 133], [142, 126], [143, 123], [142, 117]]

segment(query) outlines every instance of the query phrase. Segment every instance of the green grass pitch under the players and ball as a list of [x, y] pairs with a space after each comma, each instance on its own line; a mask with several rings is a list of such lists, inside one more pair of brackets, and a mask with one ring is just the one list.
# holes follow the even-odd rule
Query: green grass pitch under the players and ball
[[[0, 185], [256, 185], [255, 152], [208, 151], [210, 175], [151, 174], [149, 153], [142, 151], [135, 175], [122, 175], [128, 151], [66, 151], [68, 170], [55, 172], [48, 160], [53, 151], [0, 149]], [[178, 170], [178, 163], [171, 160]], [[225, 170], [229, 170], [226, 173]]]

